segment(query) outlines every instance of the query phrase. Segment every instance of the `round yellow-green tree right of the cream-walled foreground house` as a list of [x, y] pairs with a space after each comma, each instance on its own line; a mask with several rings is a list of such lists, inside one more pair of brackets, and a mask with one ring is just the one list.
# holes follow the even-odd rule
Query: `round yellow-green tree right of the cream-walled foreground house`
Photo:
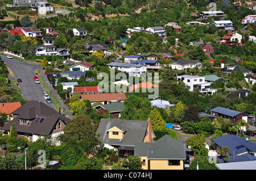
[[205, 137], [203, 134], [195, 134], [186, 140], [187, 146], [191, 146], [191, 150], [196, 153], [196, 155], [207, 155], [208, 149], [205, 148]]

